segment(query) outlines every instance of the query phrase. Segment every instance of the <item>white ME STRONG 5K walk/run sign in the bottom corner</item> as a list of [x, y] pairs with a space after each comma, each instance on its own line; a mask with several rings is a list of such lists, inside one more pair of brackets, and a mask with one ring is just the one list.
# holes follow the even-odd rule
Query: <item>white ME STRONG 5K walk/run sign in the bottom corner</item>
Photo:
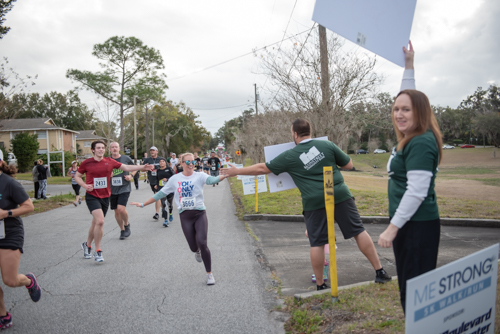
[[406, 333], [494, 333], [496, 244], [406, 282]]

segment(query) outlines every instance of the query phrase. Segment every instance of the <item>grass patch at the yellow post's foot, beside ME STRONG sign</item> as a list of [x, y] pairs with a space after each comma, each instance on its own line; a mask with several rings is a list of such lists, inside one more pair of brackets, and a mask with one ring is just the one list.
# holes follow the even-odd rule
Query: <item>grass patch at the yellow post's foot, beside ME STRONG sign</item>
[[[339, 301], [330, 294], [297, 301], [285, 299], [282, 311], [290, 318], [287, 333], [404, 333], [405, 319], [399, 302], [397, 281], [371, 283], [340, 290]], [[497, 282], [495, 333], [500, 333], [500, 270]]]

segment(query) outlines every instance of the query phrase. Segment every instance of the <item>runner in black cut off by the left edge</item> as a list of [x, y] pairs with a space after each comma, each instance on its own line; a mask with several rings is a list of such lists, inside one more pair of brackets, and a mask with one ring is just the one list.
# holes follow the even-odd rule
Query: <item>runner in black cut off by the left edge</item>
[[[21, 215], [35, 209], [23, 186], [14, 179], [17, 168], [3, 160], [0, 150], [0, 270], [4, 284], [11, 288], [25, 286], [34, 302], [41, 297], [40, 286], [34, 274], [19, 274], [19, 262], [24, 246], [24, 227]], [[14, 302], [15, 305], [15, 302]], [[14, 307], [12, 307], [14, 308]], [[0, 287], [0, 329], [12, 326], [12, 315], [7, 311], [4, 291]]]

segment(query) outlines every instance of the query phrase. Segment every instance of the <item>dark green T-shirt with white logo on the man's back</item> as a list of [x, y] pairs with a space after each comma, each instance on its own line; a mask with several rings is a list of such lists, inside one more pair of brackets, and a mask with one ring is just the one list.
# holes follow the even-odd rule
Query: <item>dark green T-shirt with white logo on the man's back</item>
[[300, 190], [304, 211], [325, 207], [323, 166], [333, 167], [335, 204], [352, 198], [337, 166], [345, 166], [351, 158], [334, 143], [310, 140], [299, 143], [266, 163], [274, 174], [287, 172]]

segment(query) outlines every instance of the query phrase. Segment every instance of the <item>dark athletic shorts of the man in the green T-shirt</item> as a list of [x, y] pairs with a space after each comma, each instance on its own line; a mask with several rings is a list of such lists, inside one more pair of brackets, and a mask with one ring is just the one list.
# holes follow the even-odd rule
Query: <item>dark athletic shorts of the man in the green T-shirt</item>
[[[311, 247], [326, 245], [328, 243], [328, 222], [325, 208], [304, 211], [304, 220]], [[344, 239], [355, 237], [365, 230], [354, 198], [335, 204], [335, 222], [339, 225]]]

